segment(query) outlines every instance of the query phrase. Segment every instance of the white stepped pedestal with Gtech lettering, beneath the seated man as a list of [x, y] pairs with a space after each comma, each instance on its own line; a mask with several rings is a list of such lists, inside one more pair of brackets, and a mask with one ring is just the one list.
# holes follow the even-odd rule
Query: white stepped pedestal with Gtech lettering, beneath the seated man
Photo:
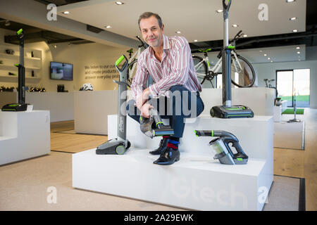
[[[160, 138], [149, 139], [128, 117], [125, 155], [96, 155], [95, 149], [73, 154], [73, 187], [192, 210], [262, 210], [273, 181], [273, 118], [199, 117], [186, 120], [180, 161], [154, 165]], [[166, 122], [166, 121], [164, 121]], [[116, 137], [116, 115], [108, 116], [108, 139]], [[194, 129], [223, 129], [235, 134], [247, 165], [221, 165], [211, 158], [211, 137]]]

